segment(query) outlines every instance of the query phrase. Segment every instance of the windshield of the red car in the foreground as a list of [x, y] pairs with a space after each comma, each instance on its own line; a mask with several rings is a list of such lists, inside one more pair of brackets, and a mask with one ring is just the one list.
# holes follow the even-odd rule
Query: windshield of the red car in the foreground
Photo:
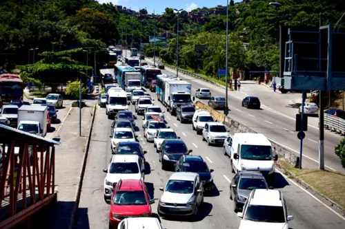
[[117, 191], [113, 200], [115, 205], [146, 205], [146, 196], [143, 191]]

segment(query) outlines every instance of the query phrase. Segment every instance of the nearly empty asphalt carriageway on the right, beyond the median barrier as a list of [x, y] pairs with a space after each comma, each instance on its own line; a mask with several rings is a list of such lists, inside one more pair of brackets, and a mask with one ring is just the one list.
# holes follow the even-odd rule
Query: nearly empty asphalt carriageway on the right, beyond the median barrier
[[[146, 58], [148, 63], [153, 63]], [[175, 70], [164, 69], [163, 74], [176, 74]], [[209, 88], [213, 96], [225, 96], [225, 89], [198, 80], [191, 76], [179, 73], [179, 77], [192, 84], [192, 94], [201, 87]], [[257, 87], [255, 87], [257, 86]], [[242, 107], [242, 99], [246, 96], [257, 96], [262, 102], [261, 109], [246, 109]], [[208, 100], [201, 100], [207, 103]], [[282, 101], [282, 102], [281, 102]], [[228, 105], [230, 112], [228, 116], [250, 127], [251, 129], [263, 133], [267, 138], [286, 146], [286, 148], [299, 155], [300, 141], [295, 132], [295, 114], [297, 109], [293, 109], [290, 98], [284, 94], [273, 93], [264, 86], [250, 85], [242, 82], [241, 91], [229, 91]], [[308, 131], [303, 141], [303, 168], [318, 168], [319, 160], [319, 128], [317, 118], [309, 118]], [[341, 136], [325, 130], [324, 134], [324, 155], [326, 169], [345, 173], [339, 157], [334, 153], [334, 146], [339, 144]]]

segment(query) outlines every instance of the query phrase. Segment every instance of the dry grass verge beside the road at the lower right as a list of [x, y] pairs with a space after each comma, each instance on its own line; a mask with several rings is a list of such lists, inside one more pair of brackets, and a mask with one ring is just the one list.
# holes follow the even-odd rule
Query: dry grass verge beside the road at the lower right
[[337, 204], [345, 208], [345, 175], [338, 172], [324, 171], [311, 168], [295, 168], [279, 160], [278, 162], [288, 171], [293, 173], [299, 179], [302, 179], [306, 184], [309, 184], [315, 190], [319, 191], [326, 197], [332, 199]]

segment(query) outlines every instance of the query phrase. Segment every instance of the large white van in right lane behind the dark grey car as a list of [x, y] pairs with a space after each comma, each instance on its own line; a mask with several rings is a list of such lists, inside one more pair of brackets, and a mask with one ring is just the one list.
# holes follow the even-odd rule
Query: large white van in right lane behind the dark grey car
[[270, 141], [261, 133], [235, 133], [224, 142], [224, 154], [230, 156], [231, 170], [259, 171], [274, 182], [275, 161]]

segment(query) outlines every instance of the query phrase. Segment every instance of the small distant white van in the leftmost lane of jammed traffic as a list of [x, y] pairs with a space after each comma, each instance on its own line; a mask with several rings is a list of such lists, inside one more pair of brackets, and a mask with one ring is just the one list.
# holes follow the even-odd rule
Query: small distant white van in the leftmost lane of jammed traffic
[[128, 105], [126, 91], [108, 91], [106, 101], [106, 115], [108, 116], [108, 119], [115, 117], [118, 111], [127, 110]]

